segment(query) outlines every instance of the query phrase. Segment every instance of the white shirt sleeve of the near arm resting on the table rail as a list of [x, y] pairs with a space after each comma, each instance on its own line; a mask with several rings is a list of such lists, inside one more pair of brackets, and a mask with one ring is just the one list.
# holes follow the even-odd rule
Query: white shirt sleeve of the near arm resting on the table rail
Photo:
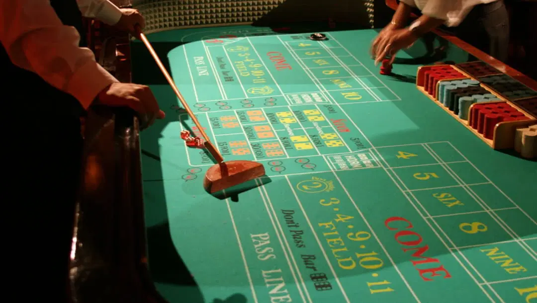
[[[65, 26], [49, 0], [0, 1], [0, 42], [13, 64], [37, 73], [88, 108], [106, 86], [119, 82], [95, 61], [80, 35]], [[28, 89], [31, 89], [29, 87]]]

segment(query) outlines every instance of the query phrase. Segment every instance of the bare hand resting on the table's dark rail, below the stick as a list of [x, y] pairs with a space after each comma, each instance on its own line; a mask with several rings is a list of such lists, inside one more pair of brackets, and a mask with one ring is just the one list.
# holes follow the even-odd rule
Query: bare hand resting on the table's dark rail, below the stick
[[140, 117], [141, 129], [153, 125], [155, 119], [164, 119], [165, 116], [158, 108], [153, 92], [146, 85], [112, 83], [99, 93], [96, 104], [134, 109]]

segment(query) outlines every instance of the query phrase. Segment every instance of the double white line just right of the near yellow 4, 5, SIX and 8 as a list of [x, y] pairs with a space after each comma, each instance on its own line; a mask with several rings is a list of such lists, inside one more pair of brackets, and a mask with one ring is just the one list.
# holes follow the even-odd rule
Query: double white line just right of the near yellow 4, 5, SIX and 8
[[[459, 177], [459, 175], [457, 175], [457, 174], [453, 171], [453, 169], [452, 169], [451, 167], [449, 167], [448, 165], [442, 164], [443, 161], [438, 157], [438, 154], [437, 154], [436, 152], [434, 152], [434, 151], [431, 149], [431, 147], [426, 146], [426, 144], [423, 144], [423, 147], [425, 148], [425, 150], [427, 150], [427, 152], [429, 152], [429, 153], [431, 154], [431, 156], [432, 156], [435, 160], [437, 160], [437, 161], [440, 163], [440, 165], [441, 165], [442, 167], [444, 167], [444, 169], [446, 170], [446, 172], [447, 172], [449, 175], [451, 175], [451, 176], [455, 179], [455, 181], [456, 181], [457, 183], [459, 183], [459, 184], [461, 185], [461, 187], [462, 187], [462, 188], [463, 188], [463, 189], [464, 189], [464, 190], [465, 190], [465, 191], [466, 191], [472, 198], [474, 198], [474, 199], [476, 200], [476, 202], [477, 202], [478, 204], [480, 204], [480, 206], [483, 208], [483, 211], [484, 211], [484, 212], [487, 212], [488, 215], [489, 215], [492, 219], [494, 219], [494, 220], [496, 221], [496, 223], [497, 223], [500, 227], [502, 227], [503, 230], [504, 230], [507, 234], [509, 234], [509, 236], [512, 237], [512, 238], [518, 243], [518, 245], [519, 245], [520, 247], [522, 247], [522, 248], [523, 248], [523, 249], [524, 249], [524, 250], [525, 250], [525, 251], [526, 251], [526, 252], [527, 252], [527, 253], [528, 253], [534, 260], [535, 260], [535, 261], [537, 261], [537, 257], [535, 257], [535, 255], [534, 255], [535, 252], [533, 252], [533, 250], [532, 250], [532, 252], [533, 252], [533, 254], [532, 254], [532, 253], [530, 253], [530, 252], [528, 251], [528, 248], [531, 250], [531, 247], [527, 246], [527, 244], [526, 244], [525, 242], [524, 242], [524, 243], [521, 243], [520, 240], [519, 240], [520, 237], [519, 237], [519, 236], [512, 230], [512, 228], [511, 228], [509, 225], [507, 225], [507, 224], [505, 223], [505, 221], [504, 221], [502, 218], [500, 218], [499, 216], [497, 216], [496, 213], [494, 212], [494, 210], [492, 210], [492, 209], [490, 208], [490, 206], [489, 206], [487, 203], [485, 203], [485, 202], [483, 201], [483, 199], [481, 199], [481, 198], [475, 193], [475, 191], [473, 191], [471, 188], [469, 188], [468, 185], [467, 185], [467, 184], [466, 184], [466, 183]], [[464, 213], [462, 213], [461, 215], [463, 215], [463, 214], [464, 214]], [[517, 238], [518, 238], [518, 239], [517, 239]]]

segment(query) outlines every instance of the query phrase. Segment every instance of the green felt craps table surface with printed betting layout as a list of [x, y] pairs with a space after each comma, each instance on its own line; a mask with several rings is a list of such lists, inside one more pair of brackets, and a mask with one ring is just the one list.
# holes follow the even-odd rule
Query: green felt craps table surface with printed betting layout
[[[133, 82], [166, 111], [141, 133], [158, 291], [170, 302], [537, 298], [537, 164], [492, 150], [416, 89], [423, 43], [389, 77], [368, 54], [375, 31], [311, 33], [148, 35], [225, 160], [265, 166], [238, 201], [204, 191], [214, 162], [186, 147], [180, 131], [194, 124], [168, 85], [144, 82], [162, 76], [132, 42]], [[445, 60], [467, 53], [450, 44]], [[156, 243], [165, 235], [172, 245]], [[177, 282], [176, 259], [195, 284]]]

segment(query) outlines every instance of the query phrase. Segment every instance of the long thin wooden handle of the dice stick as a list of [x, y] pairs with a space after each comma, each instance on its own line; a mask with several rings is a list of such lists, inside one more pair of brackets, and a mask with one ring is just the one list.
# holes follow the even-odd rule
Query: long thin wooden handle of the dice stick
[[168, 83], [170, 83], [171, 88], [173, 89], [173, 91], [177, 95], [177, 98], [179, 98], [179, 101], [181, 101], [181, 104], [183, 104], [183, 107], [185, 108], [186, 112], [191, 117], [192, 121], [194, 121], [194, 124], [196, 125], [196, 127], [198, 127], [198, 130], [201, 132], [201, 135], [204, 137], [206, 149], [209, 151], [209, 153], [211, 153], [211, 155], [214, 157], [214, 159], [217, 162], [221, 163], [224, 160], [222, 155], [216, 149], [216, 147], [211, 143], [211, 140], [209, 140], [209, 137], [205, 133], [204, 129], [201, 127], [198, 119], [196, 119], [196, 116], [194, 115], [194, 113], [192, 112], [192, 110], [190, 109], [188, 104], [186, 103], [185, 99], [183, 98], [183, 95], [177, 89], [177, 86], [175, 85], [175, 83], [173, 82], [173, 79], [171, 78], [170, 74], [168, 73], [168, 71], [164, 67], [164, 64], [162, 64], [161, 60], [158, 58], [158, 55], [157, 55], [156, 51], [151, 46], [151, 43], [149, 43], [149, 40], [147, 40], [146, 35], [144, 35], [142, 33], [142, 31], [141, 31], [139, 26], [136, 26], [136, 29], [137, 29], [138, 34], [140, 35], [140, 40], [142, 40], [143, 43], [146, 45], [147, 49], [149, 50], [149, 53], [151, 53], [151, 56], [153, 56], [153, 58], [157, 62], [158, 67], [161, 69], [162, 73], [164, 74], [164, 77], [166, 77], [166, 80], [168, 80]]

